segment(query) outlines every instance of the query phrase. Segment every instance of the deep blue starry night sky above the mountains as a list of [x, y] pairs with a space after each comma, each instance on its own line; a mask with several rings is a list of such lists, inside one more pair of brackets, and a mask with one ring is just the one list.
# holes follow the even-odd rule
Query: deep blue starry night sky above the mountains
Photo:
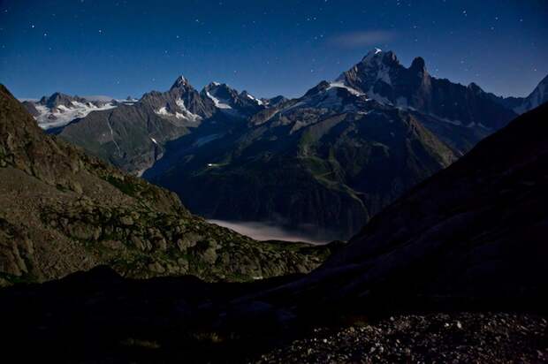
[[299, 96], [369, 49], [497, 95], [548, 74], [545, 0], [0, 0], [0, 82], [19, 98], [141, 96], [179, 74]]

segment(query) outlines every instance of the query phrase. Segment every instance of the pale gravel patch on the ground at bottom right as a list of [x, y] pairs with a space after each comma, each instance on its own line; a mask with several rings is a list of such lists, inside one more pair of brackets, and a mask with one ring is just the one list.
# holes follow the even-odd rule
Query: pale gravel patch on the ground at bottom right
[[543, 363], [543, 317], [514, 314], [398, 315], [344, 329], [316, 329], [256, 363]]

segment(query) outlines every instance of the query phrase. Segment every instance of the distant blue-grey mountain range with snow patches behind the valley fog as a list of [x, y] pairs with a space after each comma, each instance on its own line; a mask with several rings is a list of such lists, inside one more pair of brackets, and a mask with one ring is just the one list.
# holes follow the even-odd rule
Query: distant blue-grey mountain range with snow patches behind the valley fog
[[167, 92], [95, 111], [56, 133], [179, 194], [215, 219], [347, 239], [412, 186], [546, 99], [430, 76], [374, 49], [296, 99], [266, 100], [179, 77]]

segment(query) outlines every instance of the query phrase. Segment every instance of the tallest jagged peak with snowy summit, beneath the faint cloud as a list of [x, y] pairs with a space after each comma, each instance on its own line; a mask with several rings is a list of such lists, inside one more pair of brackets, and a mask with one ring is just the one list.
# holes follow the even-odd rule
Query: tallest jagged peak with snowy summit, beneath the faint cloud
[[[413, 108], [455, 125], [481, 124], [496, 130], [515, 117], [477, 85], [465, 87], [430, 76], [422, 57], [415, 57], [407, 68], [392, 51], [371, 50], [336, 82], [385, 105]], [[463, 102], [471, 98], [473, 102]]]

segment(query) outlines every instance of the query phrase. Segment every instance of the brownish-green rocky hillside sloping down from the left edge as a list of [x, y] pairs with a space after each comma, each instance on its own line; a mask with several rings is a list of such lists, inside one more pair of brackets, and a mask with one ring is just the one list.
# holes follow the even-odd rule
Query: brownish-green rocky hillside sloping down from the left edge
[[[174, 102], [178, 95], [173, 89]], [[153, 96], [142, 102], [155, 102]], [[212, 110], [212, 102], [195, 107]], [[308, 272], [336, 246], [257, 242], [209, 224], [174, 193], [45, 134], [4, 86], [0, 206], [0, 285], [49, 281], [98, 265], [125, 277], [247, 281]]]

